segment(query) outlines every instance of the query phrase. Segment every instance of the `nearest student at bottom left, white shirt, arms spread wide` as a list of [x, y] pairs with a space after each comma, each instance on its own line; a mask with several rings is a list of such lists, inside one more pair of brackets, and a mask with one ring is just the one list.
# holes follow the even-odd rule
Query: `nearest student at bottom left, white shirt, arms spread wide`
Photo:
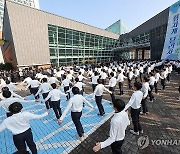
[[44, 113], [36, 115], [30, 112], [21, 112], [23, 106], [19, 102], [14, 102], [9, 106], [9, 111], [13, 113], [0, 124], [0, 132], [9, 129], [13, 134], [13, 141], [18, 151], [26, 151], [26, 144], [33, 154], [37, 154], [36, 144], [33, 141], [29, 120], [40, 119], [48, 115]]

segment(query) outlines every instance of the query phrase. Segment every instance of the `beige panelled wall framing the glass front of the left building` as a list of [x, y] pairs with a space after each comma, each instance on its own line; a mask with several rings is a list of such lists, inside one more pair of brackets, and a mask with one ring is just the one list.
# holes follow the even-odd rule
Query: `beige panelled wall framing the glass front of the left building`
[[[48, 24], [117, 39], [119, 35], [7, 1], [18, 65], [50, 63]], [[19, 16], [21, 14], [21, 16]], [[6, 34], [4, 34], [6, 35]], [[11, 43], [13, 43], [11, 42]]]

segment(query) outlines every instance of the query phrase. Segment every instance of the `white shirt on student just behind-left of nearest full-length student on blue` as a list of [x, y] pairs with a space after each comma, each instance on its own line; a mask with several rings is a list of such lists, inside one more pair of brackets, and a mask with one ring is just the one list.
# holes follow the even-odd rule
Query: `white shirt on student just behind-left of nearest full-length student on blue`
[[53, 89], [49, 92], [48, 96], [45, 98], [45, 101], [47, 101], [49, 98], [51, 98], [51, 101], [59, 101], [61, 96], [66, 96], [66, 94], [58, 89]]

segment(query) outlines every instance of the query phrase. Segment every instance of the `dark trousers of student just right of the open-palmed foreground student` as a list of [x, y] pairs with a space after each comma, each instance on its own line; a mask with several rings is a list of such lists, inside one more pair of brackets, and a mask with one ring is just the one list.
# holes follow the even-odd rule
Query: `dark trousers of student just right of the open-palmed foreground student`
[[132, 118], [132, 123], [134, 126], [134, 132], [141, 131], [141, 124], [139, 122], [139, 114], [141, 112], [141, 108], [139, 109], [133, 109], [131, 108], [131, 118]]

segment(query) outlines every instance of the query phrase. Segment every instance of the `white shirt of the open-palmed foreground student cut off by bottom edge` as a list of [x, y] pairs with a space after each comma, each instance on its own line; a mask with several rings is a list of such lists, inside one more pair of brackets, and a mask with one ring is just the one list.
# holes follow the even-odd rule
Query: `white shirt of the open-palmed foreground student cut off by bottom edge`
[[109, 138], [104, 142], [100, 142], [101, 149], [111, 145], [115, 141], [123, 140], [128, 125], [130, 125], [130, 121], [128, 114], [124, 110], [115, 113], [111, 119]]

